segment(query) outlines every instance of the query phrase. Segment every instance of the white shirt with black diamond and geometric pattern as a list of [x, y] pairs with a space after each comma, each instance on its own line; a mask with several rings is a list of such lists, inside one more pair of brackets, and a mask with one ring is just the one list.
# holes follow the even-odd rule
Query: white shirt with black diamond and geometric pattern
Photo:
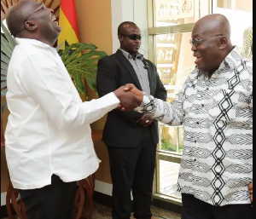
[[178, 191], [216, 206], [250, 204], [253, 61], [236, 47], [212, 78], [195, 67], [171, 104], [144, 95], [137, 111], [165, 124], [183, 124]]

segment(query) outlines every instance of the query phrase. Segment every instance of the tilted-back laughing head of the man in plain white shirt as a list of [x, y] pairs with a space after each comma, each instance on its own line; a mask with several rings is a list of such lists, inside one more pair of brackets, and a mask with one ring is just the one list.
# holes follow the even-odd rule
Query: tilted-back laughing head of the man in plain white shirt
[[14, 37], [36, 39], [52, 46], [61, 32], [53, 9], [36, 1], [21, 1], [9, 9], [6, 17]]

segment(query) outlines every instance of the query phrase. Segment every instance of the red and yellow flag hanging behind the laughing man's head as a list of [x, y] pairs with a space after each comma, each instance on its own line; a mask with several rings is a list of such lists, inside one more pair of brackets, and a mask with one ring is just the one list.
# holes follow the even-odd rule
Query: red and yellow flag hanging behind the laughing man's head
[[61, 33], [58, 37], [58, 45], [65, 39], [68, 44], [79, 43], [79, 28], [74, 0], [61, 0], [59, 26], [61, 26]]

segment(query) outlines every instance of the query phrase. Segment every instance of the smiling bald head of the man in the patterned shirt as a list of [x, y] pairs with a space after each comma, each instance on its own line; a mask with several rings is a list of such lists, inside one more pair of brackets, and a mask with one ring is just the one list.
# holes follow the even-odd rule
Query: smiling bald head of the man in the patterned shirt
[[230, 41], [230, 22], [223, 14], [206, 15], [195, 23], [191, 37], [191, 50], [197, 57], [195, 64], [211, 78], [234, 48]]

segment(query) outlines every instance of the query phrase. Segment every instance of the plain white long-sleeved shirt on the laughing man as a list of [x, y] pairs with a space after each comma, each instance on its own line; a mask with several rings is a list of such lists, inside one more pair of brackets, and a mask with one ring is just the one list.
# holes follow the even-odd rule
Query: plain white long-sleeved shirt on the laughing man
[[94, 173], [100, 160], [90, 124], [118, 107], [113, 94], [82, 102], [55, 48], [16, 38], [6, 95], [6, 158], [15, 188], [49, 185], [51, 176], [74, 182]]

